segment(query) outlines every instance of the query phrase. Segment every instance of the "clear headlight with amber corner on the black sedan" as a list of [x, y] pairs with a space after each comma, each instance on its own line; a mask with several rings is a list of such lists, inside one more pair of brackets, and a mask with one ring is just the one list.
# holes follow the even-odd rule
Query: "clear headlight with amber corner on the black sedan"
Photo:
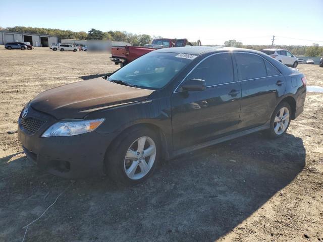
[[41, 137], [72, 136], [91, 132], [102, 124], [104, 118], [93, 120], [66, 120], [50, 126]]

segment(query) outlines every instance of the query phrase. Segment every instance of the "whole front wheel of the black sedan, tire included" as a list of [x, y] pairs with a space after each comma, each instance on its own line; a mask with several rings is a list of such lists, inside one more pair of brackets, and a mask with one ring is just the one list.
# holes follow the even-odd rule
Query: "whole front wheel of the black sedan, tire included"
[[[139, 142], [144, 143], [144, 146], [138, 147]], [[145, 157], [144, 153], [140, 154], [141, 150], [154, 153]], [[127, 154], [130, 159], [126, 159]], [[136, 127], [125, 131], [114, 141], [106, 152], [104, 164], [111, 179], [118, 184], [129, 186], [147, 179], [156, 167], [159, 157], [159, 136], [150, 129]]]

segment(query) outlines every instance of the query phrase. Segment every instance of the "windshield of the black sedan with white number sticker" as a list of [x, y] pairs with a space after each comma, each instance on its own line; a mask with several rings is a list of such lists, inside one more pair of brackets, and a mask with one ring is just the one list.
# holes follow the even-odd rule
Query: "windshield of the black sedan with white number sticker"
[[150, 52], [124, 66], [109, 77], [145, 89], [160, 89], [192, 62], [196, 55]]

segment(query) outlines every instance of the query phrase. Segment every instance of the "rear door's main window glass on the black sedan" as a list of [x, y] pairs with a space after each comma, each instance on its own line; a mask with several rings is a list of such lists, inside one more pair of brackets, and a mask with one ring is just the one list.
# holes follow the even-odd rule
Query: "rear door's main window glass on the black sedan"
[[235, 53], [239, 80], [248, 80], [267, 76], [263, 59], [256, 54]]

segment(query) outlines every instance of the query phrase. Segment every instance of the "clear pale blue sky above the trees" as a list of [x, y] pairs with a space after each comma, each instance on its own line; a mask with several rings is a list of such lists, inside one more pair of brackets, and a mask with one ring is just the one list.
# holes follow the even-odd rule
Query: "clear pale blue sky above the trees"
[[[121, 30], [223, 44], [323, 45], [323, 0], [2, 1], [0, 26]], [[24, 6], [18, 8], [18, 6]]]

